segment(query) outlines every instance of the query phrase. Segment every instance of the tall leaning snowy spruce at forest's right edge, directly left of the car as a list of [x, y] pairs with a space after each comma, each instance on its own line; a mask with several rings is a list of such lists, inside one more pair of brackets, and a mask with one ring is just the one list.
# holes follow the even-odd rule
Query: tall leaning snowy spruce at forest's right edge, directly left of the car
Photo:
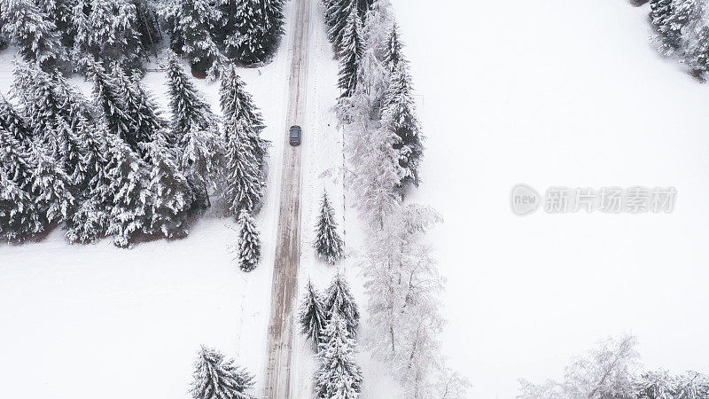
[[220, 104], [225, 121], [241, 123], [248, 138], [248, 148], [253, 150], [253, 158], [258, 162], [261, 180], [265, 180], [266, 154], [269, 141], [261, 137], [261, 131], [266, 128], [259, 109], [253, 104], [253, 98], [245, 89], [245, 83], [231, 65], [222, 76], [220, 86]]

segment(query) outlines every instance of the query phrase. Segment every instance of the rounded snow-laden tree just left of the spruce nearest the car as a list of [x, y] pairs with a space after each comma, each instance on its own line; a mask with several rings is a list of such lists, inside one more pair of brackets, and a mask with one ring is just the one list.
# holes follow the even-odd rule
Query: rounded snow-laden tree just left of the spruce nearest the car
[[222, 181], [223, 140], [211, 130], [192, 129], [182, 141], [180, 167], [192, 188], [193, 205], [206, 209], [211, 206], [210, 189]]

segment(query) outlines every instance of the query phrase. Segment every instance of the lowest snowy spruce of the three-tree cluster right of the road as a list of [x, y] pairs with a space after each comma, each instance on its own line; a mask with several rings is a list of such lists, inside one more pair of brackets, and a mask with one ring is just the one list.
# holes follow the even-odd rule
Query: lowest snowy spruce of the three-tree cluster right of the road
[[347, 330], [347, 320], [332, 313], [323, 330], [318, 348], [320, 366], [316, 372], [318, 398], [356, 399], [362, 391], [362, 371], [355, 363], [354, 339]]

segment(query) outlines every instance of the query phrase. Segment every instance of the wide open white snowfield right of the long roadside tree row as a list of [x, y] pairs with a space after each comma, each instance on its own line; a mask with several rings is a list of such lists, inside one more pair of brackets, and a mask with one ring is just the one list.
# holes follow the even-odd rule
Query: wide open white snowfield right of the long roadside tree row
[[[627, 1], [394, 0], [428, 136], [418, 198], [472, 397], [558, 377], [633, 332], [648, 368], [709, 372], [709, 86]], [[512, 185], [674, 186], [670, 215], [510, 211]]]

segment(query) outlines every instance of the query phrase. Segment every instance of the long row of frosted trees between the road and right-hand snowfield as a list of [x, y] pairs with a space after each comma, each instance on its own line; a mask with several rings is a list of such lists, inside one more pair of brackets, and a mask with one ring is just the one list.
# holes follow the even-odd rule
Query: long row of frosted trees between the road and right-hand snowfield
[[349, 186], [365, 221], [368, 294], [362, 345], [387, 364], [410, 398], [463, 397], [467, 381], [440, 353], [440, 277], [426, 233], [440, 216], [409, 203], [421, 182], [424, 135], [388, 0], [324, 0], [339, 59], [337, 113], [346, 133]]

